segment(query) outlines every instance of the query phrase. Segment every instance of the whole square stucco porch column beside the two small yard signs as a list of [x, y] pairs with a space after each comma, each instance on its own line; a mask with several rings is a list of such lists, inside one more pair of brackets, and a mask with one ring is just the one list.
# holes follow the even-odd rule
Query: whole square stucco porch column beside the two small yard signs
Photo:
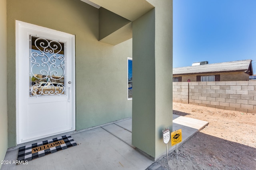
[[172, 0], [148, 2], [155, 8], [132, 23], [132, 145], [157, 159], [162, 130], [172, 131]]

